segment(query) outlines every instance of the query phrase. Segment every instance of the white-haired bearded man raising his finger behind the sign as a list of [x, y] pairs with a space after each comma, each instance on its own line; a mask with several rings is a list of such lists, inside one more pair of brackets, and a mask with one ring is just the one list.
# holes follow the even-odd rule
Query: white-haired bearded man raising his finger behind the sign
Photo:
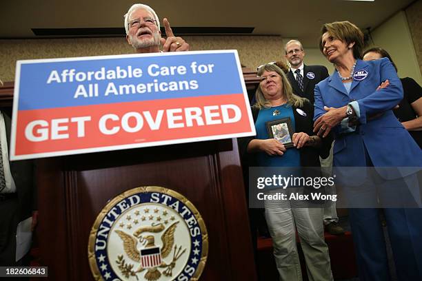
[[160, 21], [150, 6], [134, 4], [125, 14], [126, 40], [138, 53], [188, 51], [189, 44], [174, 37], [167, 19], [163, 19], [167, 39], [161, 38]]

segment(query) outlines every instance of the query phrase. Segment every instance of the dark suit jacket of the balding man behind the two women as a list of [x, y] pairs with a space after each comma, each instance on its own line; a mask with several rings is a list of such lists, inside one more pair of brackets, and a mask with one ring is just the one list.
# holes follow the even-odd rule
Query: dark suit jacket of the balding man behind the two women
[[[312, 79], [312, 76], [314, 76], [313, 79]], [[290, 84], [292, 84], [294, 94], [297, 94], [298, 96], [301, 96], [303, 98], [308, 98], [311, 105], [314, 105], [315, 85], [318, 84], [320, 81], [323, 81], [327, 77], [328, 77], [327, 67], [323, 65], [303, 65], [303, 91], [302, 91], [301, 88], [299, 88], [299, 84], [297, 83], [296, 79], [294, 79], [292, 70], [288, 72], [288, 79], [290, 81]]]

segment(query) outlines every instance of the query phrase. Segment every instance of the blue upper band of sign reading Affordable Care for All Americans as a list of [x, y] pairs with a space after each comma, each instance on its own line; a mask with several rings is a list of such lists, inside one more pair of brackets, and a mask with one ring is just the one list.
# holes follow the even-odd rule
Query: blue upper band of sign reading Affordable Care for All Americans
[[[193, 73], [192, 63], [196, 65], [193, 67], [196, 73]], [[177, 74], [177, 69], [173, 69], [175, 74], [165, 75], [161, 68], [170, 70], [180, 65], [185, 67], [185, 74]], [[135, 73], [135, 69], [142, 73], [139, 74], [139, 70]], [[205, 70], [209, 71], [200, 73]], [[125, 78], [107, 79], [112, 73]], [[132, 78], [128, 77], [129, 73]], [[63, 82], [64, 78], [67, 82]], [[243, 87], [232, 52], [22, 63], [19, 110], [241, 92]]]

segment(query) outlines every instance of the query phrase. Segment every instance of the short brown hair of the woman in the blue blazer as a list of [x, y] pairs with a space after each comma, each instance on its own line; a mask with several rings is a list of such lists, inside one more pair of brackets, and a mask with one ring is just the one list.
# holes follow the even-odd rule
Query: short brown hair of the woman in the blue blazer
[[319, 50], [323, 53], [322, 36], [325, 32], [329, 32], [334, 39], [339, 39], [347, 45], [354, 43], [353, 56], [354, 59], [362, 59], [363, 51], [363, 32], [350, 21], [334, 21], [333, 23], [325, 23], [321, 28], [321, 37], [319, 37]]

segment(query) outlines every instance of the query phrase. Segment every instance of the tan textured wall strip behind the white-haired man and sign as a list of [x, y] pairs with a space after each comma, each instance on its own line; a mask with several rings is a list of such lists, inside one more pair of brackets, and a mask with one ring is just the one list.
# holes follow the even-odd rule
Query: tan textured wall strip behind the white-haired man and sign
[[[283, 56], [283, 40], [278, 36], [183, 37], [192, 50], [238, 50], [241, 63], [257, 66]], [[16, 61], [72, 56], [130, 54], [132, 48], [123, 37], [86, 39], [0, 40], [0, 79], [14, 81]]]

